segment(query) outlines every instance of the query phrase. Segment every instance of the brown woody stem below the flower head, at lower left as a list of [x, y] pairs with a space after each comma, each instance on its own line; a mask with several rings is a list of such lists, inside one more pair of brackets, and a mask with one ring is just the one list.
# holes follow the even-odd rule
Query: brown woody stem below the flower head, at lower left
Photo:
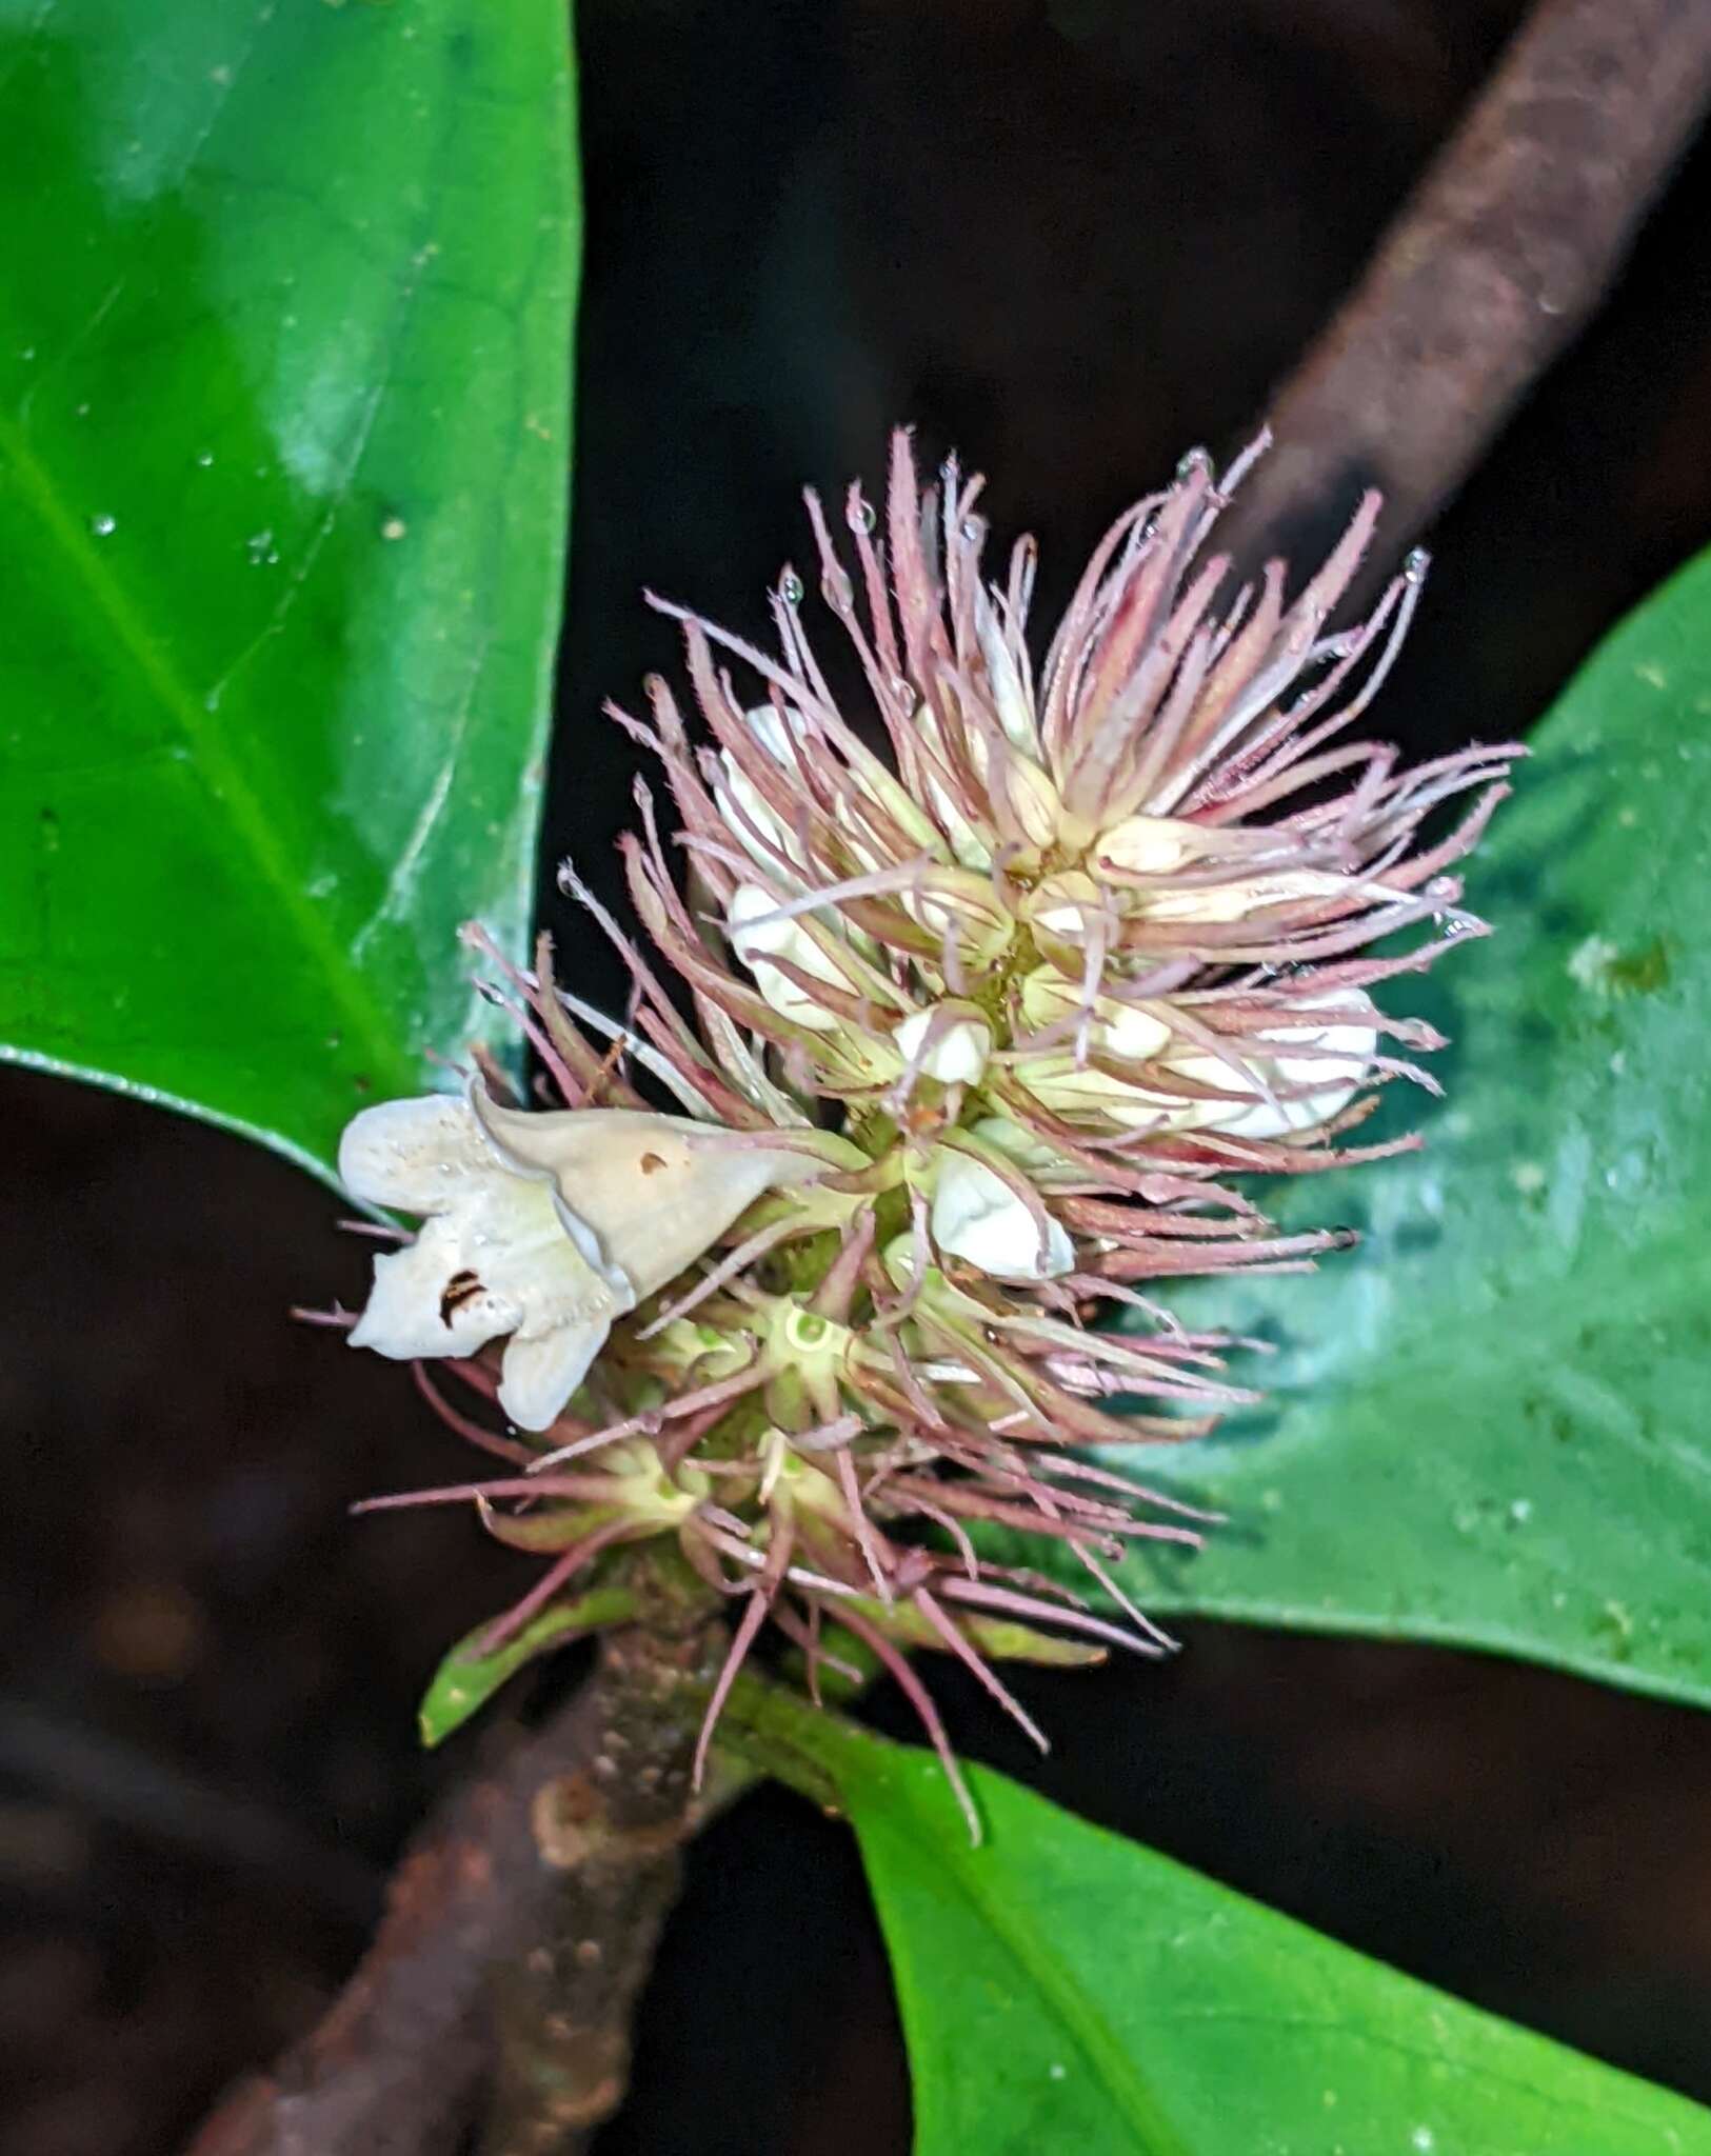
[[630, 2009], [706, 1815], [688, 1761], [716, 1639], [602, 1641], [596, 1677], [412, 1843], [356, 1975], [190, 2156], [570, 2156], [624, 2096]]

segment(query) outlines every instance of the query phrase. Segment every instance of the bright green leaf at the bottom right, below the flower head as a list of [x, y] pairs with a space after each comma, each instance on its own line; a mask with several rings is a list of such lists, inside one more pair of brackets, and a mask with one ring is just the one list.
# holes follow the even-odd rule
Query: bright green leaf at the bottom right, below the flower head
[[[818, 1727], [816, 1727], [818, 1723]], [[917, 2156], [1707, 2156], [1711, 2113], [969, 1768], [794, 1710], [898, 1979]]]

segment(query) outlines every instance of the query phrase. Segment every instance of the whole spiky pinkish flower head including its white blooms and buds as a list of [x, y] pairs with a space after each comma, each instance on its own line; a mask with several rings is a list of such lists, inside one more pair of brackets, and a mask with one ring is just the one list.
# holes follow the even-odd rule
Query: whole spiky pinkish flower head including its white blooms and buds
[[[1342, 1141], [1377, 1087], [1435, 1091], [1413, 1059], [1439, 1035], [1381, 990], [1482, 934], [1452, 869], [1517, 750], [1405, 770], [1349, 740], [1424, 576], [1411, 556], [1327, 632], [1374, 496], [1295, 599], [1282, 563], [1223, 597], [1208, 541], [1260, 446], [1221, 481], [1193, 453], [1124, 511], [1042, 653], [1031, 541], [990, 576], [982, 481], [952, 461], [923, 489], [906, 433], [885, 535], [846, 498], [848, 561], [807, 496], [833, 673], [792, 569], [777, 651], [654, 599], [703, 731], [660, 679], [652, 722], [613, 709], [673, 811], [662, 832], [639, 785], [621, 841], [652, 955], [561, 875], [632, 1022], [559, 987], [546, 942], [533, 972], [483, 942], [565, 1106], [475, 1080], [347, 1132], [350, 1188], [425, 1220], [352, 1341], [444, 1356], [546, 1436], [442, 1404], [524, 1473], [419, 1494], [559, 1552], [494, 1636], [669, 1537], [738, 1611], [703, 1751], [768, 1617], [816, 1688], [829, 1621], [865, 1643], [952, 1774], [902, 1649], [954, 1654], [1034, 1736], [995, 1658], [1163, 1651], [1109, 1567], [1206, 1520], [1079, 1447], [1191, 1438], [1254, 1395], [1139, 1283], [1310, 1266], [1346, 1235], [1277, 1235], [1226, 1177], [1413, 1143]], [[1115, 1311], [1122, 1332], [1094, 1322]], [[1057, 1544], [1087, 1593], [997, 1563], [982, 1524]]]

